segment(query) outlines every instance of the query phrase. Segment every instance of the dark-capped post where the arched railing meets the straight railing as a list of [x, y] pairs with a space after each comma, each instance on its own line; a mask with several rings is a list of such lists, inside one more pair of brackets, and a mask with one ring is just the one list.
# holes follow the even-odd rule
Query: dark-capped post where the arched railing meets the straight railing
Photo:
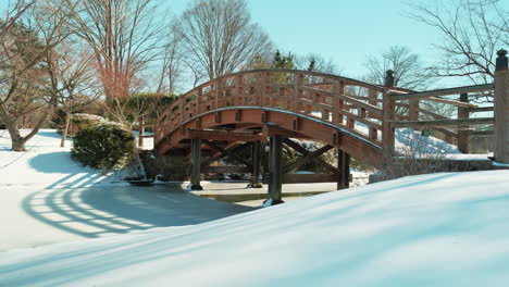
[[390, 164], [394, 154], [394, 128], [390, 121], [394, 120], [395, 102], [389, 93], [394, 88], [393, 71], [388, 70], [385, 76], [385, 88], [383, 92], [383, 116], [382, 116], [382, 146], [384, 155], [384, 165]]

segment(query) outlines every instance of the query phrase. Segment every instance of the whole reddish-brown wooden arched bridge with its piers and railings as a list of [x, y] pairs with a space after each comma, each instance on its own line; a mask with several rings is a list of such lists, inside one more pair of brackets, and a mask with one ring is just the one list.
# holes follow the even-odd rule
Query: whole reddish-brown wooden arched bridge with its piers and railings
[[[505, 62], [504, 62], [505, 61]], [[494, 117], [472, 117], [475, 112], [494, 111], [494, 107], [469, 103], [469, 96], [484, 93], [504, 99], [495, 112], [500, 124], [509, 124], [509, 76], [504, 51], [497, 59], [495, 84], [415, 92], [394, 86], [390, 72], [386, 85], [377, 86], [347, 77], [294, 70], [259, 70], [226, 75], [204, 83], [174, 102], [157, 122], [154, 145], [158, 155], [184, 153], [191, 157], [191, 188], [200, 189], [200, 173], [247, 172], [251, 185], [259, 186], [260, 142], [270, 138], [269, 192], [273, 202], [281, 201], [283, 182], [338, 182], [348, 187], [349, 157], [381, 167], [395, 154], [395, 128], [433, 128], [445, 134], [463, 152], [468, 137], [476, 132], [470, 126], [493, 125]], [[443, 98], [459, 96], [459, 99]], [[425, 109], [424, 101], [457, 107], [455, 118], [446, 118]], [[497, 107], [496, 104], [496, 107]], [[504, 109], [504, 110], [502, 110]], [[497, 117], [498, 118], [498, 117]], [[460, 127], [460, 128], [458, 128]], [[498, 128], [498, 125], [497, 125]], [[500, 132], [498, 130], [500, 129]], [[509, 133], [496, 129], [497, 160], [509, 162]], [[325, 146], [308, 151], [291, 139], [313, 139]], [[245, 144], [243, 144], [245, 142]], [[239, 145], [243, 144], [243, 145]], [[282, 166], [283, 144], [303, 158]], [[252, 155], [236, 155], [243, 147], [252, 147]], [[338, 149], [338, 164], [333, 166], [319, 155]], [[201, 151], [208, 150], [207, 159]], [[245, 166], [209, 166], [222, 157], [237, 158]], [[306, 161], [315, 161], [327, 175], [291, 175]], [[266, 172], [266, 171], [265, 171]]]

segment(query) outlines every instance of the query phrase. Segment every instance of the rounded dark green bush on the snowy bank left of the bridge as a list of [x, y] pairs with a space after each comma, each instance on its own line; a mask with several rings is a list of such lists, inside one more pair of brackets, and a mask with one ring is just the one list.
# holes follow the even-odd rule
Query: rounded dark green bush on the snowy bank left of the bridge
[[71, 157], [84, 165], [108, 171], [125, 166], [135, 151], [135, 138], [122, 125], [99, 123], [74, 136]]

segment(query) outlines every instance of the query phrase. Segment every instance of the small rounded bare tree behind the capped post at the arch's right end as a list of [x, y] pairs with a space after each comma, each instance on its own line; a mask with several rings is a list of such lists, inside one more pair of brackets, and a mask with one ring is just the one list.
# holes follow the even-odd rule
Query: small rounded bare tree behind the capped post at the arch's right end
[[396, 87], [424, 88], [432, 80], [419, 55], [402, 46], [392, 46], [378, 57], [369, 55], [364, 65], [369, 70], [367, 80], [377, 85], [384, 85], [388, 70], [394, 72]]

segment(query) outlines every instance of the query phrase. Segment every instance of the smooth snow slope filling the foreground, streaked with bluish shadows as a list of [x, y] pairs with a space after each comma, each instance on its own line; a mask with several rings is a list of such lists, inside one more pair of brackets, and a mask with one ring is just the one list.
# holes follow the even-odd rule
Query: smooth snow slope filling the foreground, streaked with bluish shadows
[[507, 286], [509, 171], [351, 188], [0, 253], [0, 286]]

